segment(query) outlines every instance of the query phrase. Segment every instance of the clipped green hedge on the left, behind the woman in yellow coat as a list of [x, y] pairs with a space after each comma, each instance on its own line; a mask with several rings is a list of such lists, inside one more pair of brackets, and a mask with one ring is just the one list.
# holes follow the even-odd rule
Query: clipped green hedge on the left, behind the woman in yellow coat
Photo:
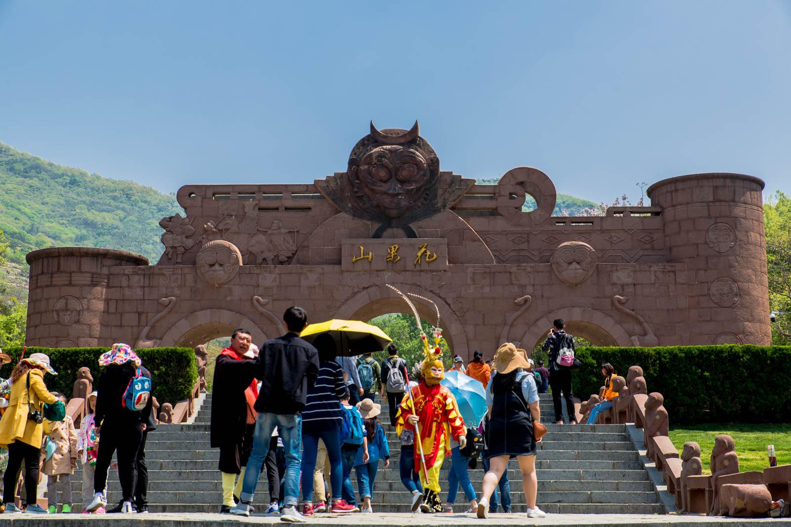
[[[99, 356], [109, 348], [34, 348], [28, 346], [25, 356], [31, 353], [46, 353], [51, 365], [58, 375], [46, 375], [44, 382], [51, 391], [65, 393], [71, 397], [77, 371], [87, 366], [93, 375], [93, 386], [99, 386], [101, 371], [104, 369], [97, 362]], [[4, 348], [4, 352], [12, 357], [10, 364], [0, 368], [0, 376], [9, 378], [13, 365], [19, 362], [22, 348]], [[143, 361], [143, 366], [151, 372], [153, 396], [160, 404], [169, 402], [175, 405], [183, 401], [198, 380], [198, 365], [195, 362], [195, 351], [191, 348], [142, 348], [134, 350]]]

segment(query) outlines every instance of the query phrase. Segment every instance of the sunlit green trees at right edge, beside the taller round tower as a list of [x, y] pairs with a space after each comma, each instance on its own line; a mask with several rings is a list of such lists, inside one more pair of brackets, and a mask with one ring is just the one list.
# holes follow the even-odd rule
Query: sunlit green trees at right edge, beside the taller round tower
[[763, 205], [773, 344], [791, 344], [791, 198], [778, 190]]

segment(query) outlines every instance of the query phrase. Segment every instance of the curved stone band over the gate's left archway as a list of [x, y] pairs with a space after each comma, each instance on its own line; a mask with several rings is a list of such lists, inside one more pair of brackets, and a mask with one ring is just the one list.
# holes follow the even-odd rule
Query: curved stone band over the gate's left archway
[[249, 329], [252, 341], [263, 344], [267, 334], [243, 314], [225, 309], [206, 309], [188, 314], [165, 333], [157, 345], [195, 348], [217, 337], [230, 337], [234, 329]]

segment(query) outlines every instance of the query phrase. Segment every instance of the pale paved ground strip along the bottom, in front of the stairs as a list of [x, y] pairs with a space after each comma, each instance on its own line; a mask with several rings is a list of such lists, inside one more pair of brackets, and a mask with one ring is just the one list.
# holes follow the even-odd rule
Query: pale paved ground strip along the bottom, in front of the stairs
[[[202, 527], [236, 522], [244, 524], [286, 525], [278, 515], [260, 514], [250, 518], [229, 514], [2, 514], [0, 527], [33, 527], [40, 525], [63, 525], [77, 527], [85, 525], [100, 527]], [[587, 525], [588, 527], [614, 527], [617, 525], [791, 525], [789, 518], [716, 518], [676, 514], [550, 514], [547, 518], [526, 518], [524, 514], [491, 514], [487, 520], [479, 520], [474, 514], [316, 514], [305, 524], [299, 525], [411, 525], [414, 527], [434, 525]]]

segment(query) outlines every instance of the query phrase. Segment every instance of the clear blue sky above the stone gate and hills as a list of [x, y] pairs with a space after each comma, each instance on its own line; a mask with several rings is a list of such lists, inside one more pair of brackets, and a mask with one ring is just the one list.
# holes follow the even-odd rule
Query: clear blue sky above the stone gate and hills
[[0, 0], [0, 141], [174, 191], [304, 183], [420, 122], [441, 168], [593, 201], [791, 190], [791, 2]]

